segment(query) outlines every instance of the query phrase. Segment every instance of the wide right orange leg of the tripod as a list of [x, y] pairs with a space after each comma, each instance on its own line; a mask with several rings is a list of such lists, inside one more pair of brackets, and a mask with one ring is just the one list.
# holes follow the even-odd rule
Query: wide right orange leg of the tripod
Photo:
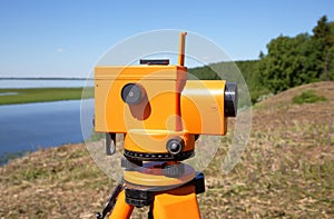
[[200, 219], [195, 186], [167, 190], [155, 196], [154, 219]]

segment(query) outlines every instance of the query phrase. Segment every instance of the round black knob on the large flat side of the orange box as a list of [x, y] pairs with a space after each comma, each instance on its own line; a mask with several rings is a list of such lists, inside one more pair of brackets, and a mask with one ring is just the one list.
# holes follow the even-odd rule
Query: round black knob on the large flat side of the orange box
[[138, 104], [145, 98], [145, 89], [138, 83], [127, 83], [120, 92], [122, 101], [128, 104]]

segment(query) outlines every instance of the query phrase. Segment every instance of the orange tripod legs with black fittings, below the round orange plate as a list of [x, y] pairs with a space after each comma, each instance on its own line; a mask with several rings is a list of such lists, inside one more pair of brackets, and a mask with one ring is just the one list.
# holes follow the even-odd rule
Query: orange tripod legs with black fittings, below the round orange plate
[[[119, 183], [104, 209], [104, 216], [98, 217], [98, 219], [102, 219], [108, 212], [111, 212], [109, 219], [129, 219], [135, 206], [146, 203], [147, 200], [141, 198], [148, 196], [147, 193], [145, 193], [146, 196], [138, 196], [140, 192], [143, 195], [144, 191], [131, 190], [129, 192], [129, 188], [127, 189], [127, 201], [130, 201], [130, 203], [134, 202], [134, 206], [132, 203], [127, 203], [126, 189], [122, 183]], [[196, 178], [184, 186], [164, 191], [155, 191], [149, 203], [147, 202], [147, 206], [150, 207], [148, 219], [200, 219], [196, 195], [204, 191], [204, 175], [202, 172], [197, 172]], [[140, 197], [140, 199], [131, 200], [134, 197], [128, 197], [131, 193], [136, 193], [135, 197]], [[139, 206], [143, 207], [143, 205]]]

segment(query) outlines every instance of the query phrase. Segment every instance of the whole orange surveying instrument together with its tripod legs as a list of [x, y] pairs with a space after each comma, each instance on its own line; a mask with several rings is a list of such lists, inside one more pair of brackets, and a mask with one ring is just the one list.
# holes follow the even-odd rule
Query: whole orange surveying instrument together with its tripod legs
[[195, 156], [199, 135], [224, 136], [237, 113], [237, 86], [224, 80], [188, 80], [185, 37], [178, 64], [166, 59], [139, 66], [95, 68], [95, 130], [106, 133], [106, 152], [124, 135], [122, 179], [98, 219], [130, 218], [149, 207], [149, 219], [199, 219], [196, 195], [203, 172], [181, 161]]

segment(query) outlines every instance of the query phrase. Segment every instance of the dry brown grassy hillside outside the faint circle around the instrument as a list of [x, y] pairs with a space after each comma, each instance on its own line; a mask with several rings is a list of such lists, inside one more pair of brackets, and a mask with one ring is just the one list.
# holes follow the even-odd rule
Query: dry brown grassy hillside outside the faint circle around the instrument
[[[293, 103], [310, 90], [326, 100]], [[224, 153], [206, 170], [203, 218], [333, 218], [334, 82], [256, 104], [249, 143], [227, 176], [219, 172]], [[39, 150], [0, 168], [0, 218], [94, 218], [112, 186], [85, 145]]]

